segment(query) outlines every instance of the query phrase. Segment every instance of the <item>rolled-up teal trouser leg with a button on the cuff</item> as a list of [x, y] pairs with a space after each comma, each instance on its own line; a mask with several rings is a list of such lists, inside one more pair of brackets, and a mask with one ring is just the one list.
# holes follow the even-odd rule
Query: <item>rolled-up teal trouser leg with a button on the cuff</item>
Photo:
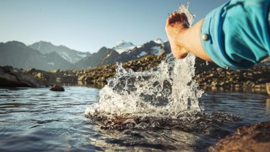
[[243, 69], [270, 55], [270, 0], [232, 0], [212, 10], [201, 27], [209, 57], [223, 68]]

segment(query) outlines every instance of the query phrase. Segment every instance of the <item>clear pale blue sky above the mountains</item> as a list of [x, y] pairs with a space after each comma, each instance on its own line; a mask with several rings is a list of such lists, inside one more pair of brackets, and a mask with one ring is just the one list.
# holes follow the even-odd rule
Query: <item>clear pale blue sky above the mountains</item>
[[[227, 0], [191, 0], [195, 22]], [[167, 40], [168, 14], [186, 0], [0, 0], [0, 42], [47, 41], [97, 52], [125, 40]]]

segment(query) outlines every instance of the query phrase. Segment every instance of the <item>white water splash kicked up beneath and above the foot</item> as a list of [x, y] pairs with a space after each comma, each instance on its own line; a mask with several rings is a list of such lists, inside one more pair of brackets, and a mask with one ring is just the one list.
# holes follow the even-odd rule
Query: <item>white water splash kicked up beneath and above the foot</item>
[[[186, 5], [180, 4], [178, 13], [188, 17], [190, 25], [194, 15]], [[99, 91], [99, 102], [86, 109], [87, 117], [141, 116], [177, 118], [183, 112], [199, 112], [199, 90], [194, 79], [195, 55], [183, 60], [168, 55], [159, 66], [150, 71], [126, 71], [117, 64], [116, 75]]]

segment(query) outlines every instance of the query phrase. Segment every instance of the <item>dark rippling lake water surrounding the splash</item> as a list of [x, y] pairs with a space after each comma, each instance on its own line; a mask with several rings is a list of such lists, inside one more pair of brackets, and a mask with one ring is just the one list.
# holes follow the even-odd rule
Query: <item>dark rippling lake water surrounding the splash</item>
[[266, 94], [206, 92], [196, 120], [156, 118], [145, 121], [151, 127], [101, 129], [84, 116], [99, 89], [65, 89], [1, 88], [0, 151], [208, 151], [236, 127], [270, 119]]

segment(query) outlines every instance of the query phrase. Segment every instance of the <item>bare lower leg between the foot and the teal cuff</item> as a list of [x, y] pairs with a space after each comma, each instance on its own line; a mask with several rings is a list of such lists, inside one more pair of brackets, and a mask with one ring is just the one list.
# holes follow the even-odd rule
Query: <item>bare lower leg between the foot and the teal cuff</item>
[[176, 43], [191, 53], [194, 53], [199, 58], [206, 61], [212, 61], [206, 54], [206, 51], [201, 43], [201, 26], [203, 22], [204, 20], [202, 19], [192, 27], [180, 33], [179, 39], [176, 40]]

